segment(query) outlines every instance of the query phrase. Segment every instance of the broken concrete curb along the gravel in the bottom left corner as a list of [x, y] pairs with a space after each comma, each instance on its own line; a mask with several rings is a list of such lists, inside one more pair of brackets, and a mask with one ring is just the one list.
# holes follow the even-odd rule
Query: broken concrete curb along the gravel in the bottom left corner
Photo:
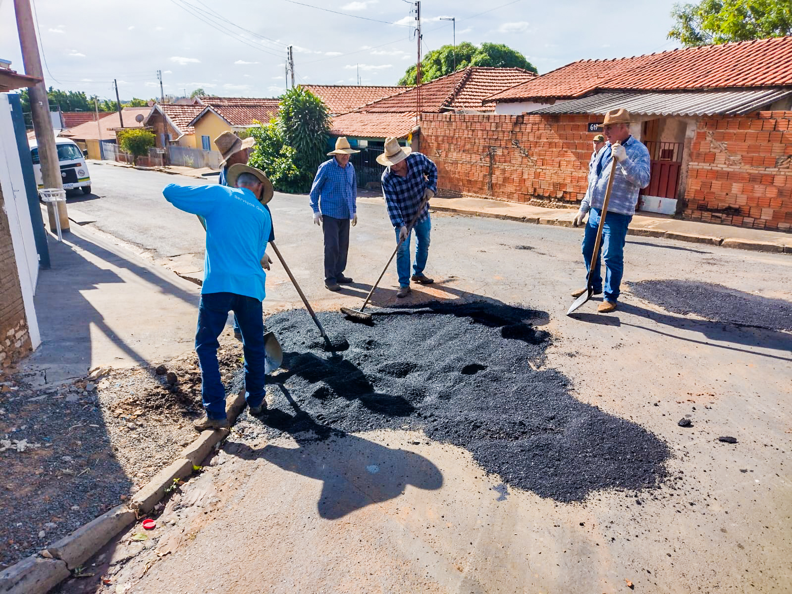
[[[231, 425], [246, 406], [245, 389], [228, 398], [226, 414]], [[0, 594], [45, 594], [67, 579], [70, 570], [88, 561], [102, 546], [147, 514], [165, 496], [174, 479], [192, 474], [193, 466], [202, 462], [217, 445], [228, 436], [222, 431], [204, 431], [181, 451], [173, 463], [160, 470], [143, 486], [129, 505], [119, 505], [102, 514], [85, 526], [79, 527], [63, 539], [52, 543], [40, 555], [31, 555], [0, 572]]]

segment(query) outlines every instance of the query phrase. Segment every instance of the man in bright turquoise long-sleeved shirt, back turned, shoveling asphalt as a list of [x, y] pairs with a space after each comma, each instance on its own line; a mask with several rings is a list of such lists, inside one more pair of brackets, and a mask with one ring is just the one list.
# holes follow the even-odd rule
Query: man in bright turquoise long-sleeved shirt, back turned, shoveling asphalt
[[169, 203], [206, 221], [204, 285], [201, 287], [196, 353], [201, 370], [201, 397], [206, 413], [193, 425], [198, 431], [229, 428], [226, 390], [220, 380], [217, 337], [233, 311], [242, 333], [245, 354], [245, 399], [250, 413], [260, 415], [265, 403], [264, 316], [262, 268], [272, 218], [265, 204], [272, 184], [253, 167], [228, 169], [228, 186], [169, 184], [162, 190]]

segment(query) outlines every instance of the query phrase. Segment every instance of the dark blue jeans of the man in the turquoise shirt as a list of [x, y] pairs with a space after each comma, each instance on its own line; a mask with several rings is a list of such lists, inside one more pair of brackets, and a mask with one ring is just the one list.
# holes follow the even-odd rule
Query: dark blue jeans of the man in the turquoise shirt
[[261, 301], [235, 293], [206, 293], [200, 296], [196, 353], [200, 363], [201, 398], [211, 419], [226, 418], [226, 389], [220, 380], [217, 337], [223, 332], [228, 312], [233, 311], [242, 331], [245, 353], [245, 399], [261, 406], [265, 397], [264, 316]]

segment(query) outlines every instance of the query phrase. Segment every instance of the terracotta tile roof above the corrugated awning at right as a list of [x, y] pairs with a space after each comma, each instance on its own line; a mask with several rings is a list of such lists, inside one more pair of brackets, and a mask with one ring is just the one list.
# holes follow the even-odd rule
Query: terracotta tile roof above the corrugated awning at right
[[792, 85], [792, 36], [581, 60], [486, 101], [581, 97], [594, 90], [729, 89]]

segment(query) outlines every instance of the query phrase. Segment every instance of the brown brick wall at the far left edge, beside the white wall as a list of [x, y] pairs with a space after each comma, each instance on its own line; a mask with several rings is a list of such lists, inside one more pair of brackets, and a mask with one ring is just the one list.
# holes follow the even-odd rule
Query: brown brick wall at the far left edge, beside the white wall
[[15, 364], [31, 350], [17, 261], [0, 189], [0, 371]]

